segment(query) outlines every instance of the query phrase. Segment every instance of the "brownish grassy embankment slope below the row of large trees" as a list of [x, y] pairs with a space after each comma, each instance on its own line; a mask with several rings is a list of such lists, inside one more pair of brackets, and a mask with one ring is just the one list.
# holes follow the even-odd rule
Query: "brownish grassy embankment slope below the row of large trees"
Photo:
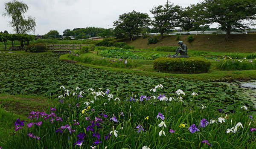
[[[212, 52], [256, 52], [256, 34], [232, 34], [229, 41], [224, 41], [225, 35], [220, 34], [198, 34], [192, 43], [187, 41], [189, 35], [180, 35], [182, 40], [190, 50], [212, 51]], [[157, 46], [178, 46], [177, 35], [164, 36], [156, 43], [147, 45], [148, 38], [139, 37], [134, 41], [125, 40], [129, 45], [140, 49], [155, 48]], [[158, 36], [158, 38], [160, 38]]]

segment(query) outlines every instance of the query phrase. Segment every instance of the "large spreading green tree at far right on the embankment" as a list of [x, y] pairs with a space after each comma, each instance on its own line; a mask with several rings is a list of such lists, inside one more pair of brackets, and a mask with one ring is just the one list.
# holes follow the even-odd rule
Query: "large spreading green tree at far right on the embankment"
[[219, 23], [230, 38], [231, 30], [249, 29], [256, 19], [256, 0], [204, 0], [197, 4], [201, 7], [201, 24]]

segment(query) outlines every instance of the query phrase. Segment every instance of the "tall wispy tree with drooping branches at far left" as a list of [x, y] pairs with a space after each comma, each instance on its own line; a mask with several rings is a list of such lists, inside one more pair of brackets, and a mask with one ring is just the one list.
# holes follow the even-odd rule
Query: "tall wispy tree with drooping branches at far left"
[[3, 16], [12, 18], [9, 23], [17, 34], [35, 32], [35, 18], [30, 16], [27, 19], [24, 18], [24, 14], [28, 9], [29, 7], [25, 3], [17, 0], [5, 3], [6, 12]]

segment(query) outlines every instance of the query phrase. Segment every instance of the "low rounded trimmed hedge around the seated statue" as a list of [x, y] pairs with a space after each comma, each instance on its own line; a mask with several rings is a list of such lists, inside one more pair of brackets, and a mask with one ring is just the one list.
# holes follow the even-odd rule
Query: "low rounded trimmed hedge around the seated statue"
[[167, 58], [160, 57], [154, 60], [154, 69], [158, 72], [175, 73], [203, 73], [208, 72], [211, 63], [200, 57]]

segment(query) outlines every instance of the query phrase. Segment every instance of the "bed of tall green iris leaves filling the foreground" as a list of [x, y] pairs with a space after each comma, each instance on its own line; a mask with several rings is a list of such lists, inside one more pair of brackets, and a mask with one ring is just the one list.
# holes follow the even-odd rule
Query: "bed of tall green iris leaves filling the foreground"
[[[186, 96], [171, 93], [168, 96], [172, 96], [176, 100], [172, 99], [170, 101], [169, 97], [166, 100], [158, 100], [154, 97], [149, 100], [142, 97], [143, 100], [141, 100], [141, 95], [145, 94], [130, 92], [126, 98], [119, 101], [118, 99], [114, 100], [119, 97], [118, 91], [109, 94], [104, 94], [106, 89], [96, 89], [95, 91], [91, 93], [92, 91], [85, 89], [85, 93], [81, 92], [83, 97], [78, 97], [76, 94], [75, 96], [72, 94], [73, 92], [79, 94], [79, 89], [77, 91], [74, 89], [71, 92], [60, 90], [60, 95], [64, 95], [64, 92], [66, 92], [66, 96], [64, 96], [63, 103], [59, 102], [55, 105], [56, 111], [48, 109], [47, 114], [43, 116], [36, 112], [39, 115], [38, 119], [32, 117], [27, 123], [42, 121], [42, 125], [34, 124], [28, 128], [27, 123], [25, 123], [24, 128], [13, 134], [3, 147], [15, 149], [78, 149], [79, 146], [76, 145], [76, 142], [79, 140], [77, 135], [80, 133], [87, 135], [87, 137], [80, 139], [84, 141], [81, 148], [86, 149], [90, 146], [97, 146], [97, 149], [104, 149], [105, 146], [108, 149], [141, 149], [143, 146], [148, 146], [150, 149], [198, 149], [211, 148], [211, 145], [214, 149], [253, 149], [256, 146], [256, 132], [250, 131], [250, 127], [255, 127], [256, 123], [248, 115], [250, 109], [245, 110], [242, 103], [232, 105], [235, 107], [235, 111], [227, 110], [222, 113], [218, 110], [222, 109], [223, 103], [221, 101], [219, 106], [211, 106], [211, 102], [208, 105], [201, 105], [201, 101], [190, 93]], [[67, 96], [67, 92], [70, 93], [69, 96]], [[161, 92], [162, 89], [158, 88], [156, 92], [153, 92], [153, 95], [157, 97]], [[113, 93], [113, 97], [111, 93]], [[150, 97], [152, 94], [145, 96]], [[184, 103], [179, 99], [180, 97], [182, 97]], [[82, 110], [85, 112], [82, 113]], [[163, 120], [160, 117], [157, 118], [158, 112], [164, 115]], [[31, 115], [36, 117], [36, 114], [31, 113]], [[57, 120], [58, 117], [61, 117], [63, 121]], [[113, 117], [116, 117], [118, 122], [111, 120]], [[224, 118], [225, 122], [220, 123], [218, 117]], [[199, 127], [200, 121], [204, 118], [208, 122], [216, 120], [217, 123]], [[255, 116], [252, 118], [255, 118]], [[78, 121], [79, 125], [74, 125]], [[166, 127], [159, 126], [162, 121], [166, 123]], [[239, 122], [242, 123], [243, 128], [240, 126], [238, 132], [226, 132], [227, 129], [236, 126]], [[67, 124], [71, 130], [75, 131], [70, 133], [66, 128], [62, 129], [63, 133], [55, 132], [61, 126]], [[184, 124], [184, 127], [180, 124]], [[192, 124], [195, 124], [200, 131], [191, 133], [189, 126]], [[137, 132], [138, 125], [141, 125], [145, 130]], [[88, 126], [91, 126], [94, 130], [87, 130]], [[118, 131], [117, 137], [113, 134], [108, 135], [113, 131], [113, 128]], [[170, 129], [175, 130], [175, 132], [169, 132]], [[165, 132], [166, 136], [159, 135], [161, 130]], [[93, 137], [93, 133], [96, 132], [99, 133], [99, 138]], [[40, 137], [40, 140], [29, 137], [29, 133]], [[96, 140], [102, 142], [97, 144], [95, 143]], [[208, 140], [210, 145], [202, 143], [203, 140]]]

